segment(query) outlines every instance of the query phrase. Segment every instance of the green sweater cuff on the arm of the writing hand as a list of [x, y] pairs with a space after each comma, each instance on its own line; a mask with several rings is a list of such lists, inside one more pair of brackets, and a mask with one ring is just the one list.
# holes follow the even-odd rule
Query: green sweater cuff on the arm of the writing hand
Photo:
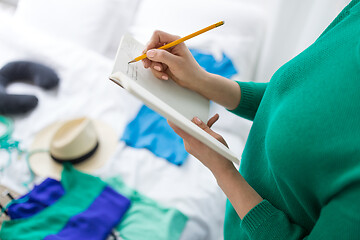
[[237, 82], [240, 86], [241, 98], [239, 105], [234, 110], [229, 110], [236, 115], [254, 120], [257, 109], [267, 87], [267, 83]]

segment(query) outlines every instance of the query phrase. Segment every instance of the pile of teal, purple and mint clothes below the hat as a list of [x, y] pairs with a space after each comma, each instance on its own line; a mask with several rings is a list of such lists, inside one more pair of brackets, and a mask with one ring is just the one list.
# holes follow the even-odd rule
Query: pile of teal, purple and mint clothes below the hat
[[61, 182], [48, 178], [21, 197], [27, 201], [9, 207], [15, 220], [3, 224], [0, 239], [98, 240], [114, 227], [125, 240], [180, 238], [186, 215], [127, 187], [120, 177], [105, 181], [66, 164]]

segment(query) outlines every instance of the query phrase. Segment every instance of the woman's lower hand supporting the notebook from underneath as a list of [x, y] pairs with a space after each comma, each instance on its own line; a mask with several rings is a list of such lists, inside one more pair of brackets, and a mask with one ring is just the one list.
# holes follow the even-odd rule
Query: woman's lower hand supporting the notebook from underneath
[[[194, 117], [192, 122], [198, 125], [205, 132], [213, 136], [216, 140], [224, 144], [226, 144], [224, 138], [218, 133], [211, 130], [211, 126], [219, 119], [219, 114], [215, 114], [207, 124], [202, 122], [199, 118]], [[223, 173], [228, 172], [228, 170], [234, 170], [235, 167], [232, 162], [225, 159], [222, 155], [218, 154], [190, 134], [186, 133], [172, 122], [168, 121], [169, 125], [174, 129], [174, 131], [184, 140], [185, 150], [199, 159], [206, 167], [213, 172], [216, 178], [221, 177]]]

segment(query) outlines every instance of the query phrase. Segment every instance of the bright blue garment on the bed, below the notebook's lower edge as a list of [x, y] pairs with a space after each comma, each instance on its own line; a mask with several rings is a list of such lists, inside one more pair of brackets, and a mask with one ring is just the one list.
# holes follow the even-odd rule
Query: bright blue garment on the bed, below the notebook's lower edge
[[121, 140], [133, 148], [146, 148], [176, 165], [183, 164], [189, 155], [182, 138], [172, 130], [166, 119], [145, 105], [126, 126]]

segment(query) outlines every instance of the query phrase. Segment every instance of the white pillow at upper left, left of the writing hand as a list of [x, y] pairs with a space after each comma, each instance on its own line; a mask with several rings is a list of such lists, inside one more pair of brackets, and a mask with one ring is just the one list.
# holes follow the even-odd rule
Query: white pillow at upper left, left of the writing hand
[[138, 0], [20, 0], [15, 18], [114, 57]]

